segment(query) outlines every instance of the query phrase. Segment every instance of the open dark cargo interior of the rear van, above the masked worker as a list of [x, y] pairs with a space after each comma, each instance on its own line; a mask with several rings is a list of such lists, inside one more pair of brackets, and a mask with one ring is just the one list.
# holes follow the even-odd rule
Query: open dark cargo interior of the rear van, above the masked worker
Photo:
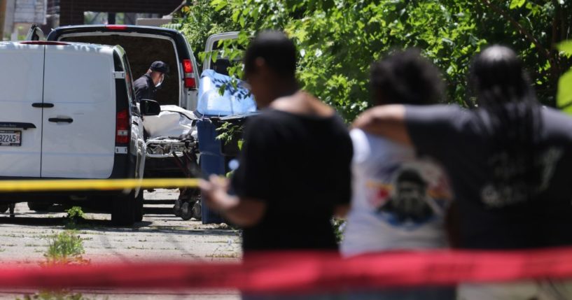
[[86, 35], [62, 36], [60, 41], [95, 43], [102, 45], [120, 45], [127, 52], [127, 59], [131, 65], [133, 80], [137, 80], [156, 60], [169, 64], [170, 73], [157, 91], [155, 101], [160, 105], [179, 105], [181, 94], [181, 81], [179, 78], [179, 62], [172, 40], [167, 38], [146, 37], [134, 34], [95, 35], [90, 32]]

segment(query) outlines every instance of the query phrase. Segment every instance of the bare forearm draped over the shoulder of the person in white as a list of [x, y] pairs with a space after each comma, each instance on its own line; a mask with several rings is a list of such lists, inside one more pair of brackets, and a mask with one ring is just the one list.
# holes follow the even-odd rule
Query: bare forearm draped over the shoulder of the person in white
[[404, 145], [412, 145], [405, 124], [405, 106], [395, 104], [365, 110], [352, 125], [370, 134], [384, 136]]

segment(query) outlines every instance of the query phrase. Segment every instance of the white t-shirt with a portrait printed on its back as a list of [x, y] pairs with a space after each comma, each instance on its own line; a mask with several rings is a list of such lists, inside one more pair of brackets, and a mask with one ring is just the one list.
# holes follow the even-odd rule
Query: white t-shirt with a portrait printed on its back
[[342, 255], [447, 246], [444, 171], [412, 148], [354, 129], [353, 195]]

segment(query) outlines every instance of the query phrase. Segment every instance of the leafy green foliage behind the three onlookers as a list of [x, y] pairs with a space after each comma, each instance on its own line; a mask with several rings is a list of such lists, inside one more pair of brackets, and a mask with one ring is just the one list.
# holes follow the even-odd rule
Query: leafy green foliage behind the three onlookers
[[[181, 23], [188, 29], [206, 26], [209, 33], [241, 30], [243, 36], [285, 30], [300, 50], [302, 87], [352, 120], [368, 107], [371, 62], [410, 47], [421, 49], [442, 69], [449, 102], [471, 106], [466, 90], [470, 60], [484, 45], [509, 45], [530, 71], [540, 101], [554, 106], [559, 77], [571, 65], [556, 47], [572, 29], [570, 2], [203, 0], [186, 11]], [[208, 24], [200, 24], [200, 17]], [[186, 33], [193, 41], [207, 35]]]

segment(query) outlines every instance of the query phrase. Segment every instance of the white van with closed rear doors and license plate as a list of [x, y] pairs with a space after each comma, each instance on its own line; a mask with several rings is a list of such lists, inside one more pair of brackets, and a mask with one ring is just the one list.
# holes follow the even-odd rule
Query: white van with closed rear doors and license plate
[[[142, 178], [143, 123], [122, 48], [0, 43], [0, 66], [0, 179]], [[159, 113], [154, 101], [140, 105]], [[142, 213], [140, 194], [0, 194], [0, 201], [40, 207], [92, 200], [111, 208], [115, 224], [129, 225]]]

